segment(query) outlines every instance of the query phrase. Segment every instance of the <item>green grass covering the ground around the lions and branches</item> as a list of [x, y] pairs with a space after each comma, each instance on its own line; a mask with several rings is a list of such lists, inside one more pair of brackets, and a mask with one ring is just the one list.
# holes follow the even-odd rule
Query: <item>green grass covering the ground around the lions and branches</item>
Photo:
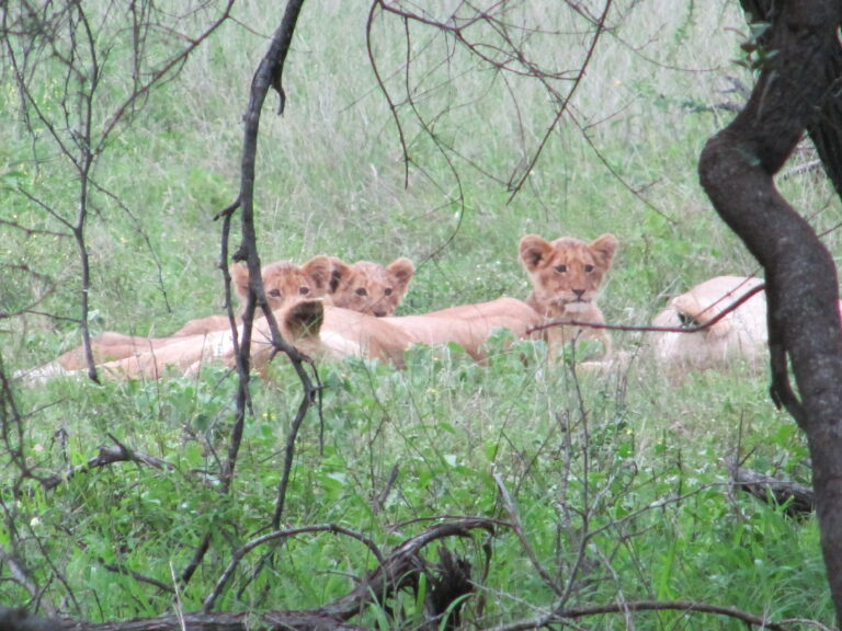
[[[550, 134], [514, 196], [505, 183], [523, 173], [524, 157], [553, 119], [536, 84], [509, 78], [509, 92], [499, 73], [478, 69], [464, 50], [442, 65], [447, 42], [413, 30], [418, 107], [435, 117], [436, 139], [453, 149], [459, 177], [401, 102], [412, 159], [405, 187], [395, 123], [366, 57], [365, 7], [305, 5], [284, 72], [286, 112], [274, 116], [270, 95], [261, 124], [255, 209], [262, 260], [409, 256], [418, 272], [401, 312], [414, 313], [525, 297], [516, 260], [525, 233], [591, 239], [613, 232], [621, 250], [601, 306], [610, 322], [624, 325], [648, 323], [669, 296], [705, 278], [755, 272], [710, 208], [695, 167], [706, 139], [730, 116], [704, 107], [737, 100], [722, 93], [726, 76], [751, 82], [732, 64], [740, 42], [735, 30], [744, 31], [736, 4], [617, 7], [617, 30], [598, 47], [571, 116]], [[546, 13], [542, 23], [561, 34], [535, 36], [528, 46], [558, 68], [576, 67], [581, 37], [571, 34], [569, 13], [551, 11], [550, 3], [517, 12]], [[277, 13], [263, 18], [257, 7], [237, 7], [238, 21], [201, 47], [175, 80], [150, 92], [96, 164], [96, 182], [114, 196], [91, 197], [95, 330], [163, 335], [220, 310], [220, 228], [213, 217], [237, 196], [241, 114]], [[378, 19], [374, 32], [379, 69], [397, 97], [402, 26]], [[55, 111], [58, 79], [45, 77], [38, 96]], [[78, 182], [46, 140], [37, 146], [39, 161], [33, 159], [11, 76], [2, 79], [0, 112], [10, 134], [0, 147], [0, 219], [26, 230], [3, 227], [0, 310], [34, 305], [76, 318], [73, 243], [55, 234], [61, 227], [19, 187], [71, 218]], [[106, 84], [100, 123], [124, 89], [116, 77]], [[780, 184], [818, 230], [835, 227], [839, 203], [821, 174]], [[832, 251], [839, 239], [838, 232], [826, 237]], [[238, 243], [235, 234], [232, 249]], [[2, 320], [0, 335], [7, 374], [78, 343], [71, 321], [32, 312]], [[618, 332], [614, 343], [634, 352], [639, 335]], [[469, 624], [533, 617], [557, 601], [559, 586], [570, 587], [569, 606], [697, 600], [774, 620], [808, 612], [832, 622], [815, 520], [793, 520], [727, 485], [732, 458], [804, 481], [804, 438], [769, 400], [765, 371], [737, 366], [673, 382], [641, 357], [621, 375], [593, 375], [547, 366], [539, 345], [494, 344], [488, 366], [448, 348], [413, 349], [402, 371], [353, 359], [319, 366], [322, 415], [311, 411], [298, 437], [284, 527], [334, 523], [388, 551], [440, 516], [511, 520], [502, 483], [551, 584], [510, 528], [489, 540], [487, 575], [483, 536], [451, 540], [471, 561], [478, 583], [467, 603]], [[266, 531], [300, 399], [283, 362], [270, 381], [253, 383], [253, 414], [225, 495], [218, 473], [234, 391], [219, 368], [197, 380], [15, 385], [22, 434], [5, 447], [20, 447], [39, 474], [83, 464], [114, 440], [169, 464], [111, 464], [44, 491], [0, 456], [0, 544], [46, 588], [45, 600], [93, 621], [201, 608], [231, 552]], [[172, 576], [208, 531], [212, 552], [177, 599]], [[269, 552], [272, 563], [250, 580]], [[426, 558], [437, 559], [432, 547]], [[360, 541], [298, 536], [250, 554], [217, 608], [317, 607], [353, 588], [353, 578], [374, 564]], [[0, 567], [8, 578], [8, 567]], [[416, 597], [398, 600], [394, 617], [373, 606], [362, 623], [416, 628]], [[30, 601], [20, 584], [0, 582], [0, 603]], [[585, 624], [627, 628], [622, 616]], [[635, 628], [742, 629], [668, 612], [639, 613]]]

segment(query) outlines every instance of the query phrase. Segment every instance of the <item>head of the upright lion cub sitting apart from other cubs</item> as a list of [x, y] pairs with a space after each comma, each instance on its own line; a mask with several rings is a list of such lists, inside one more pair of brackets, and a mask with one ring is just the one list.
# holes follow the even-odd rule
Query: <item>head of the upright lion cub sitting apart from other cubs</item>
[[613, 234], [591, 242], [570, 237], [549, 242], [527, 234], [520, 244], [521, 262], [533, 286], [526, 302], [542, 316], [589, 310], [616, 251]]

